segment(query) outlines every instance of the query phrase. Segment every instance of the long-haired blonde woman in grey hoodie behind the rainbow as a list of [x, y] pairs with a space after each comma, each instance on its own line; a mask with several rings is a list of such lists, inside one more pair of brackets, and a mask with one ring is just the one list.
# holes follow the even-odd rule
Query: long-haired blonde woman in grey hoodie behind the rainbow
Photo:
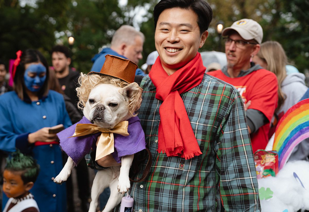
[[[273, 72], [278, 80], [278, 106], [275, 110], [273, 127], [270, 129], [269, 138], [274, 133], [276, 123], [286, 111], [296, 104], [307, 91], [305, 75], [302, 73], [286, 74], [287, 57], [281, 44], [277, 41], [266, 41], [261, 44], [260, 51], [252, 61], [263, 68]], [[272, 132], [271, 132], [272, 131]], [[266, 149], [272, 146], [271, 138]], [[308, 160], [309, 141], [304, 140], [293, 150], [289, 161]]]

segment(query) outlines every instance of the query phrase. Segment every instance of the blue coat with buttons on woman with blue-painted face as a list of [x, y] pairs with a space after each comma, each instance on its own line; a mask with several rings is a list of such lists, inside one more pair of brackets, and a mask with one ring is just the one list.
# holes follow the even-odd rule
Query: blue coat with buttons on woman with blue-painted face
[[[30, 191], [44, 212], [66, 211], [66, 185], [53, 182], [63, 167], [61, 149], [57, 144], [28, 145], [28, 134], [58, 124], [72, 125], [63, 96], [55, 91], [34, 102], [26, 97], [21, 100], [15, 91], [0, 96], [0, 149], [14, 152], [18, 148], [37, 160], [40, 173]], [[2, 206], [6, 201], [3, 194]]]

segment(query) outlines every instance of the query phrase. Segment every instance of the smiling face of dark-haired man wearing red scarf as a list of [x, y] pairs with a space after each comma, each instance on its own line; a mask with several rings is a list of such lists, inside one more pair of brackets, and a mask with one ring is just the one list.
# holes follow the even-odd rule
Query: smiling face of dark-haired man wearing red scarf
[[193, 10], [171, 8], [159, 15], [155, 29], [155, 47], [162, 66], [177, 70], [191, 61], [208, 36], [200, 35], [197, 14]]

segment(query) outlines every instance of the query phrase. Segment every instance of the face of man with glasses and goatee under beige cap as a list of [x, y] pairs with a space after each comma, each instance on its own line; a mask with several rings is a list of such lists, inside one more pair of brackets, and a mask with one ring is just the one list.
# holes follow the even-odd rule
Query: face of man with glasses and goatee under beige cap
[[[243, 39], [238, 33], [233, 33], [228, 36], [232, 40], [242, 40]], [[242, 47], [236, 47], [235, 42], [232, 41], [230, 45], [225, 45], [225, 54], [227, 59], [227, 67], [230, 68], [239, 68], [242, 69], [246, 65], [248, 65], [251, 55], [255, 50], [255, 46], [253, 44], [245, 44]]]

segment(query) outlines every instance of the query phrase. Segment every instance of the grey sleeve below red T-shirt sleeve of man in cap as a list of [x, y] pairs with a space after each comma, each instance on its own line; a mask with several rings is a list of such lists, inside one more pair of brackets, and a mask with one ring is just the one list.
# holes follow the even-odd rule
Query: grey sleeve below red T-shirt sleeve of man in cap
[[246, 116], [247, 124], [251, 129], [251, 133], [256, 132], [264, 124], [269, 123], [266, 116], [262, 112], [255, 109], [248, 109], [246, 111]]

